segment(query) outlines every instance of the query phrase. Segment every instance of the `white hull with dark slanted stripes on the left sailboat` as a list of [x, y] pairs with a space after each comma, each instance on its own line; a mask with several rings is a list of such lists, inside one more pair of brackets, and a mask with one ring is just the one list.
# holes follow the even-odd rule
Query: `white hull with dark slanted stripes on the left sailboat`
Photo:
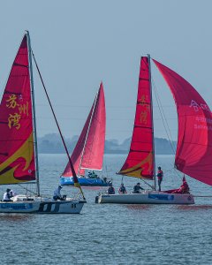
[[[31, 200], [31, 201], [27, 201]], [[21, 214], [79, 214], [86, 201], [67, 199], [54, 201], [49, 198], [19, 195], [14, 201], [0, 201], [0, 213]]]

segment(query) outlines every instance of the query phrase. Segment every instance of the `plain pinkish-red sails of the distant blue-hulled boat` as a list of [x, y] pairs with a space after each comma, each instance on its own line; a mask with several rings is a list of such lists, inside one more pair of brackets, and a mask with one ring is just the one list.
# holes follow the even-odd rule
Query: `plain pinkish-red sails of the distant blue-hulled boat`
[[[105, 124], [105, 102], [103, 85], [101, 83], [95, 102], [87, 117], [86, 124], [84, 125], [79, 140], [72, 152], [71, 159], [74, 169], [80, 175], [84, 175], [85, 169], [102, 170]], [[72, 176], [72, 170], [69, 163], [64, 170], [63, 176]]]

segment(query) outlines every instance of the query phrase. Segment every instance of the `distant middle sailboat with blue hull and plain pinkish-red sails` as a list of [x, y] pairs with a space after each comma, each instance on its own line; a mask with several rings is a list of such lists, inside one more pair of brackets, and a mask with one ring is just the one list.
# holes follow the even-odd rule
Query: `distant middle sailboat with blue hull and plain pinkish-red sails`
[[[108, 186], [107, 179], [99, 178], [94, 171], [102, 170], [105, 124], [105, 101], [103, 84], [101, 82], [95, 95], [95, 101], [71, 156], [81, 186]], [[87, 177], [85, 176], [86, 170], [92, 170]], [[60, 178], [60, 184], [62, 186], [74, 185], [70, 163], [67, 163], [64, 169]]]

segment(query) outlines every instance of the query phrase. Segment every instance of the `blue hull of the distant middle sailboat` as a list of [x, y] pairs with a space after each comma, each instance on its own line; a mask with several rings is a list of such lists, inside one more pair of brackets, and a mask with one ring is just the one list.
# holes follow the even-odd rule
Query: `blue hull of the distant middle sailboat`
[[[101, 178], [78, 178], [80, 186], [109, 186], [107, 182], [104, 182]], [[74, 186], [72, 177], [61, 177], [60, 185], [62, 186]]]

